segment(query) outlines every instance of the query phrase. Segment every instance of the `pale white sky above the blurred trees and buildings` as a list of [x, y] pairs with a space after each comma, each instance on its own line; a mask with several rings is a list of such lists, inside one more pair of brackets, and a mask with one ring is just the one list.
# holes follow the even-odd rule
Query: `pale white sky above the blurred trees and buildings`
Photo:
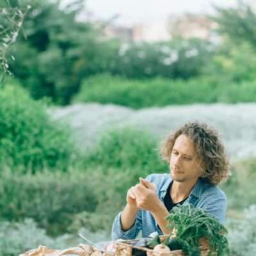
[[[72, 0], [63, 1], [70, 3]], [[166, 20], [170, 15], [212, 14], [212, 4], [236, 6], [237, 0], [85, 0], [85, 3], [94, 19], [109, 20], [118, 15], [114, 24], [129, 27], [148, 21]]]

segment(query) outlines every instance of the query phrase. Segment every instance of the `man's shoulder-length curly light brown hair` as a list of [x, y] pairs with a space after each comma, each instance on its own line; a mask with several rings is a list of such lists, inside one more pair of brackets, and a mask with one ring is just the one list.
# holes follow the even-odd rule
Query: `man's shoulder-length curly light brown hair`
[[226, 180], [230, 175], [229, 159], [220, 135], [206, 124], [189, 122], [168, 135], [161, 145], [163, 159], [170, 162], [173, 145], [181, 134], [190, 138], [195, 145], [196, 157], [200, 161], [201, 179], [214, 185]]

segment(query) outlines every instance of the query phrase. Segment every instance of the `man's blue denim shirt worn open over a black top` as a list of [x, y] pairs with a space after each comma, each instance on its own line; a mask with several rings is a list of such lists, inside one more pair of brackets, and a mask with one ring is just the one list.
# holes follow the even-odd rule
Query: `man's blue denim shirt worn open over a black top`
[[[149, 182], [154, 182], [157, 187], [157, 195], [163, 202], [168, 186], [172, 182], [170, 174], [151, 174], [146, 178]], [[202, 179], [198, 179], [187, 200], [182, 205], [193, 204], [195, 207], [207, 210], [212, 216], [217, 218], [220, 223], [225, 220], [227, 208], [227, 198], [225, 193], [217, 186], [207, 184]], [[163, 232], [157, 227], [156, 220], [149, 211], [140, 209], [136, 216], [134, 225], [127, 231], [122, 230], [121, 214], [116, 216], [112, 227], [112, 238], [116, 239], [134, 239], [140, 230], [142, 237], [148, 237], [152, 232], [157, 231], [159, 235]]]

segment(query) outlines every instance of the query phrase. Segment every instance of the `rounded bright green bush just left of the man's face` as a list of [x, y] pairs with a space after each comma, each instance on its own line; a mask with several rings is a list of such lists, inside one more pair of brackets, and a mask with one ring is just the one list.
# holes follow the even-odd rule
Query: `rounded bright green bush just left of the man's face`
[[84, 164], [102, 166], [106, 173], [109, 168], [128, 171], [132, 182], [137, 182], [140, 175], [145, 177], [168, 170], [157, 150], [157, 139], [147, 131], [132, 127], [116, 128], [102, 134], [95, 147], [88, 150]]

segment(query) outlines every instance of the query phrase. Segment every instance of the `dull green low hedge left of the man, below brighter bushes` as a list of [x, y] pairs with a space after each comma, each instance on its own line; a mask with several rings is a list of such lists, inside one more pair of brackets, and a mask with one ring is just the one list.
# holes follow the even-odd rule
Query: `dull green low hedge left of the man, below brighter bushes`
[[[134, 169], [101, 168], [86, 172], [30, 173], [0, 176], [0, 220], [23, 221], [31, 218], [52, 236], [108, 230], [116, 214], [126, 204], [127, 190], [134, 180]], [[143, 170], [136, 172], [143, 176]]]

